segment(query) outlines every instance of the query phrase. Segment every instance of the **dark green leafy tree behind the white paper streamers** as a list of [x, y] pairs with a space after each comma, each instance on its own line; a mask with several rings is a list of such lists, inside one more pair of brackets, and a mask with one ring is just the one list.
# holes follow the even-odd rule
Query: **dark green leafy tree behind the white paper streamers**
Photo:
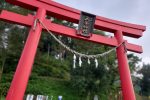
[[[105, 35], [102, 31], [96, 30], [96, 34]], [[75, 40], [73, 49], [85, 54], [98, 54], [110, 50], [110, 47], [100, 44], [89, 43], [81, 40]], [[79, 58], [79, 57], [77, 57]], [[94, 59], [90, 59], [91, 64], [88, 64], [88, 59], [82, 58], [82, 67], [78, 65], [71, 70], [71, 84], [79, 91], [79, 95], [87, 97], [87, 100], [93, 99], [94, 95], [99, 95], [103, 99], [108, 99], [106, 95], [114, 91], [114, 82], [118, 79], [115, 54], [111, 53], [108, 56], [98, 59], [99, 66], [95, 67]], [[71, 61], [70, 61], [71, 62]]]

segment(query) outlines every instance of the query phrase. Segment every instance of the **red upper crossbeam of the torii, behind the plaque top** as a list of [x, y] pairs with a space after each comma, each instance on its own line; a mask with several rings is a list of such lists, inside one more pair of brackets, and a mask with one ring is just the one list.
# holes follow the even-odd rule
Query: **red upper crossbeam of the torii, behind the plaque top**
[[[6, 0], [12, 4], [22, 6], [27, 9], [36, 10], [37, 8], [45, 8], [47, 14], [56, 18], [64, 19], [70, 22], [78, 23], [80, 11], [58, 4], [51, 0]], [[108, 32], [121, 30], [125, 36], [138, 38], [142, 36], [145, 26], [129, 24], [108, 18], [97, 16], [95, 28]]]

